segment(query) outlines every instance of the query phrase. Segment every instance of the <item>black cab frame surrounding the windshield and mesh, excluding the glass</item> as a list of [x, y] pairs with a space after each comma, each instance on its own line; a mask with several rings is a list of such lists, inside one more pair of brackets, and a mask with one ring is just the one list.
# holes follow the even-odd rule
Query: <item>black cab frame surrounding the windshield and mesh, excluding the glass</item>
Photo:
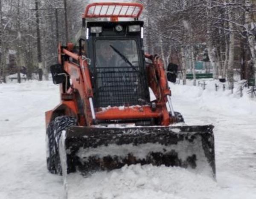
[[[121, 25], [123, 27], [122, 31], [116, 31], [115, 26]], [[143, 27], [142, 21], [128, 21], [128, 22], [87, 22], [87, 28], [89, 28], [89, 38], [87, 39], [87, 57], [90, 58], [90, 72], [92, 74], [92, 84], [93, 84], [93, 92], [94, 92], [94, 106], [104, 107], [105, 104], [102, 104], [99, 99], [99, 92], [97, 90], [97, 78], [99, 76], [99, 71], [96, 68], [96, 51], [95, 51], [95, 43], [96, 40], [135, 40], [137, 43], [137, 51], [138, 51], [138, 59], [139, 59], [139, 67], [138, 71], [140, 73], [140, 87], [143, 93], [140, 94], [140, 98], [144, 99], [146, 102], [150, 102], [149, 91], [148, 91], [148, 80], [146, 75], [145, 68], [145, 55], [143, 48], [143, 38], [141, 38], [141, 32], [128, 32], [128, 26], [130, 25], [140, 25]], [[102, 33], [92, 34], [90, 33], [90, 27], [93, 26], [101, 26]], [[122, 67], [124, 68], [124, 67]], [[127, 68], [128, 69], [128, 68]], [[111, 68], [109, 68], [111, 70]], [[122, 71], [123, 73], [131, 74], [131, 71]], [[121, 74], [121, 71], [120, 71]], [[116, 75], [116, 78], [120, 76], [120, 74]], [[135, 78], [135, 74], [132, 75]], [[131, 98], [130, 98], [131, 99]], [[126, 105], [125, 100], [123, 101], [117, 100], [117, 102], [110, 103], [111, 106], [120, 106]], [[128, 105], [139, 105], [140, 102], [127, 102]]]

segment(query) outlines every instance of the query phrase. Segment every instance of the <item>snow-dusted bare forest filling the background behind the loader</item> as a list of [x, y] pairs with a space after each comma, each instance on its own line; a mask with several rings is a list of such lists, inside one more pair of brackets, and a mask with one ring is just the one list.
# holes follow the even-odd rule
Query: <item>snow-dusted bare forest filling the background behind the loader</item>
[[[243, 78], [252, 75], [250, 67], [256, 71], [252, 0], [136, 1], [144, 5], [141, 19], [145, 21], [145, 51], [159, 54], [165, 68], [169, 62], [179, 65], [184, 84], [187, 71], [192, 72], [195, 84], [195, 62], [202, 57], [204, 48], [214, 78], [227, 78], [230, 88], [233, 87], [234, 67], [236, 71], [241, 67]], [[38, 2], [37, 12], [35, 2]], [[44, 79], [47, 79], [49, 66], [57, 60], [58, 41], [62, 41], [62, 45], [66, 45], [67, 40], [73, 41], [81, 28], [81, 14], [89, 2], [92, 0], [44, 0], [40, 3], [38, 0], [0, 0], [0, 7], [1, 3], [7, 5], [6, 9], [0, 9], [0, 75], [5, 74], [8, 61], [5, 58], [11, 49], [16, 51], [17, 71], [26, 65], [28, 73], [32, 74], [41, 62]]]

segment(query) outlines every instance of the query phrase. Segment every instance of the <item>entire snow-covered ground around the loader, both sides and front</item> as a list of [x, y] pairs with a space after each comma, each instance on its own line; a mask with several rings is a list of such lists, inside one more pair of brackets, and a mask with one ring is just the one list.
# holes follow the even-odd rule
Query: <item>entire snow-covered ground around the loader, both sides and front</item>
[[[188, 125], [215, 125], [217, 182], [183, 168], [131, 165], [87, 179], [69, 176], [69, 199], [256, 199], [256, 101], [230, 91], [170, 84], [175, 110]], [[0, 199], [61, 199], [62, 177], [45, 160], [44, 111], [58, 86], [0, 84]]]

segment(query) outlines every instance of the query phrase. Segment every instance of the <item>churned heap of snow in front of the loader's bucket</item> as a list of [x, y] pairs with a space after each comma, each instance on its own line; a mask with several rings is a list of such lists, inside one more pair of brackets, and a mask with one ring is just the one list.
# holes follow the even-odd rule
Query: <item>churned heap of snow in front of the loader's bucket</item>
[[220, 190], [210, 177], [183, 168], [139, 164], [88, 178], [73, 173], [68, 182], [68, 199], [207, 199]]

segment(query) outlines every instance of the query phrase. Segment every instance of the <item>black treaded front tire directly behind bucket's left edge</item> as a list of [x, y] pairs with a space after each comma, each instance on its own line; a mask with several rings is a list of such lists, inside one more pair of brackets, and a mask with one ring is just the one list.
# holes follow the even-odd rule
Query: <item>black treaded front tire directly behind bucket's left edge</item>
[[55, 135], [55, 170], [59, 175], [62, 174], [61, 160], [58, 151], [58, 142], [61, 137], [62, 131], [65, 131], [70, 126], [76, 126], [77, 121], [74, 117], [60, 116], [54, 119], [54, 135]]

